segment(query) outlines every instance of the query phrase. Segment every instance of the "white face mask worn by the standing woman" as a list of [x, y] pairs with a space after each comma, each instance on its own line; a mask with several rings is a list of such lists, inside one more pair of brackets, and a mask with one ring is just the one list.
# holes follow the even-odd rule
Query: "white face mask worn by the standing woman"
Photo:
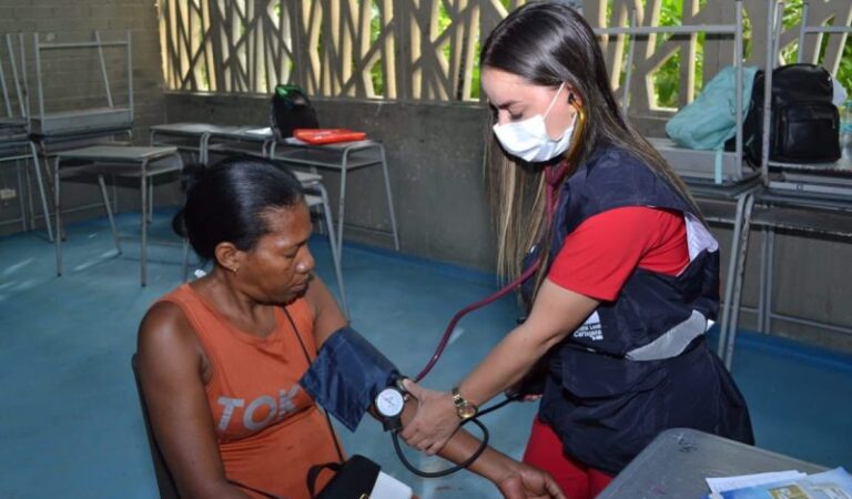
[[500, 144], [503, 144], [507, 152], [524, 161], [532, 162], [552, 160], [568, 149], [568, 145], [571, 143], [577, 118], [575, 116], [574, 123], [556, 140], [548, 136], [547, 126], [545, 125], [545, 118], [554, 108], [562, 88], [565, 88], [565, 82], [559, 85], [559, 90], [556, 91], [556, 95], [554, 95], [554, 100], [550, 101], [550, 105], [547, 106], [544, 115], [536, 114], [530, 119], [516, 123], [498, 123], [494, 125], [494, 134], [497, 135], [497, 140], [500, 141]]

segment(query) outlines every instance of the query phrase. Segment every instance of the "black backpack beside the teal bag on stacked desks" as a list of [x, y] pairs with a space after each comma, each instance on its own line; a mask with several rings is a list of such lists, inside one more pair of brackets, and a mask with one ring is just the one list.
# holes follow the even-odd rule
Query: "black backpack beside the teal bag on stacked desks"
[[[763, 71], [754, 77], [743, 122], [743, 152], [760, 165], [763, 142]], [[832, 103], [831, 74], [814, 64], [772, 70], [769, 159], [783, 163], [831, 163], [840, 159], [840, 115]]]

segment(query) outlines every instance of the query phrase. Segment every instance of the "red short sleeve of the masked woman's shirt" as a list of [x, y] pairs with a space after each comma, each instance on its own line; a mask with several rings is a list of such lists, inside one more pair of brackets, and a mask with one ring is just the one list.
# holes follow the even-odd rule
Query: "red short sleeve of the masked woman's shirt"
[[627, 206], [589, 217], [568, 234], [548, 278], [566, 289], [611, 302], [637, 267], [678, 275], [688, 264], [681, 212]]

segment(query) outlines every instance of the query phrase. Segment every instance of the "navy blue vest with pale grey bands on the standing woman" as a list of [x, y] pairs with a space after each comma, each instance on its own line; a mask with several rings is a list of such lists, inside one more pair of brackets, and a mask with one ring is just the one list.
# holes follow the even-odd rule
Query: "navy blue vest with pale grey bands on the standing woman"
[[568, 455], [610, 473], [667, 428], [752, 444], [746, 403], [703, 339], [719, 310], [718, 244], [666, 180], [619, 149], [592, 155], [561, 186], [550, 261], [585, 220], [623, 206], [683, 213], [690, 264], [678, 276], [637, 268], [551, 350], [539, 417]]

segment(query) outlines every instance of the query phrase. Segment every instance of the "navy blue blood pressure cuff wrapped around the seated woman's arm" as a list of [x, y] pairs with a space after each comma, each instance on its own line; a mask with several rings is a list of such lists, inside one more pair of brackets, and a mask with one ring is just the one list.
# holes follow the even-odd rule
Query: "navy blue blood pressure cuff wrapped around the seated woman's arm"
[[396, 366], [358, 332], [342, 327], [323, 343], [298, 384], [355, 431], [376, 395], [398, 376]]

